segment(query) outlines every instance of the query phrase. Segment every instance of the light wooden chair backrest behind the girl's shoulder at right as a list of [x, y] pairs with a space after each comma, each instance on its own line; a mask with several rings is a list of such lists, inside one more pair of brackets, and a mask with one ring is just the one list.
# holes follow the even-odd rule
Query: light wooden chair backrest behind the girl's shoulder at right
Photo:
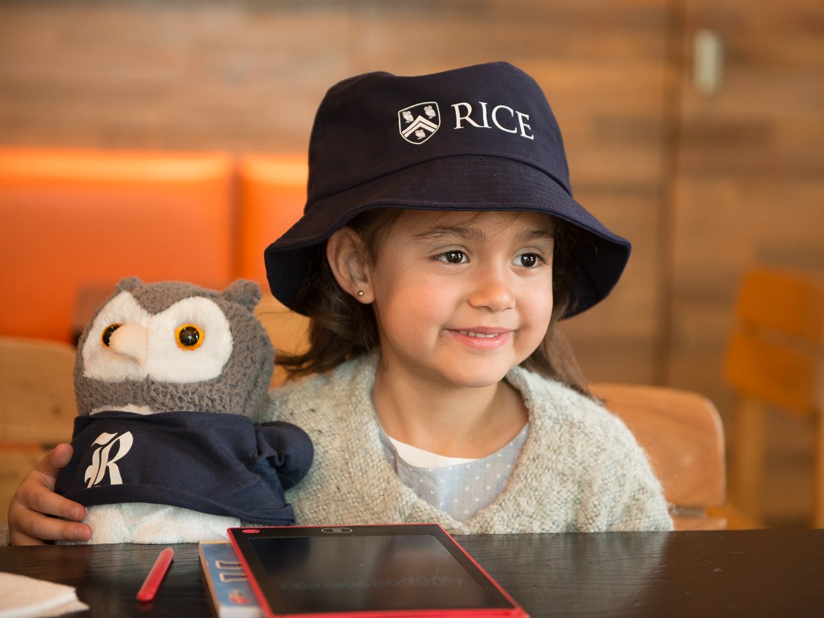
[[723, 425], [715, 405], [692, 391], [665, 386], [593, 383], [613, 414], [647, 452], [679, 530], [726, 527], [710, 516], [726, 500]]

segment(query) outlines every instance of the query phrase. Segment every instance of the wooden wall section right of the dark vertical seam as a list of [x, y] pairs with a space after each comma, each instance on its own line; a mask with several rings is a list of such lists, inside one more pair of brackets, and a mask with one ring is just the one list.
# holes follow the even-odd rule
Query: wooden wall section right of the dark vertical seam
[[[824, 3], [689, 0], [682, 22], [665, 381], [705, 392], [726, 413], [720, 376], [743, 270], [760, 262], [824, 273]], [[690, 46], [703, 29], [723, 43], [712, 95], [690, 82]], [[766, 435], [765, 519], [803, 525], [810, 425], [773, 413]]]

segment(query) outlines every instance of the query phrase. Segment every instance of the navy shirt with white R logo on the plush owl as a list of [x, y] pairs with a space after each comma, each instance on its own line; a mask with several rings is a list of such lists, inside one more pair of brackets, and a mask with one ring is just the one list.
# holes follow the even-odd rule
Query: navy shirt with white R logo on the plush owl
[[169, 504], [272, 526], [294, 523], [283, 490], [314, 455], [293, 424], [213, 412], [78, 416], [72, 446], [56, 490], [84, 506]]

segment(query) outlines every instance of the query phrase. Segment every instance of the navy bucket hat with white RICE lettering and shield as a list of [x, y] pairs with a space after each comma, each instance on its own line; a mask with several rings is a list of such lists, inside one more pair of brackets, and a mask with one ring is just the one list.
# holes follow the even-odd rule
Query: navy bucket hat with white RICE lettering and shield
[[335, 84], [309, 140], [302, 218], [265, 250], [274, 297], [293, 308], [311, 252], [373, 208], [531, 211], [583, 233], [569, 247], [573, 316], [620, 279], [630, 242], [572, 197], [555, 115], [541, 87], [508, 63], [399, 77], [366, 73]]

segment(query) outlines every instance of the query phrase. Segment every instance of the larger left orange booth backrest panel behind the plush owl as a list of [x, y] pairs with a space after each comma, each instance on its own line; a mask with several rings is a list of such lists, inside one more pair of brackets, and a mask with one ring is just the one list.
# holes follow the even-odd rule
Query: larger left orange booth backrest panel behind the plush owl
[[229, 283], [233, 183], [224, 152], [0, 148], [0, 335], [71, 341], [78, 294], [127, 275]]

